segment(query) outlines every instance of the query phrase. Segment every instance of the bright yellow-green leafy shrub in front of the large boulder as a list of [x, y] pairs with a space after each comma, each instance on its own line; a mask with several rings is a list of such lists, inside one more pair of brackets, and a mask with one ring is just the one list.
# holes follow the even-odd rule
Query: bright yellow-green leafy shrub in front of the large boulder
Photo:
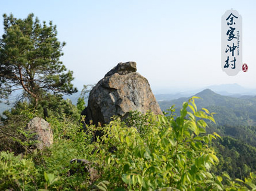
[[[133, 127], [119, 119], [104, 127], [103, 144], [98, 142], [93, 156], [103, 172], [101, 180], [109, 181], [110, 189], [220, 188], [208, 172], [218, 162], [214, 149], [208, 147], [217, 134], [201, 135], [206, 127], [203, 119], [214, 119], [207, 110], [197, 111], [193, 101], [183, 104], [176, 120], [135, 113], [137, 119], [132, 119], [138, 123]], [[187, 107], [193, 107], [194, 113]]]

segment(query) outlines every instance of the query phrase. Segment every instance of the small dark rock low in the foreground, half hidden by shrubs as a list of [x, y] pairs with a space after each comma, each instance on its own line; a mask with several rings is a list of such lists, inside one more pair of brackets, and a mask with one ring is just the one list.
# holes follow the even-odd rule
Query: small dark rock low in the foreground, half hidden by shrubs
[[75, 173], [87, 173], [89, 172], [90, 181], [95, 182], [99, 178], [98, 171], [92, 167], [92, 163], [85, 159], [72, 159], [70, 161], [71, 164], [77, 163], [76, 167], [73, 167], [71, 170], [69, 170], [68, 175], [74, 175]]

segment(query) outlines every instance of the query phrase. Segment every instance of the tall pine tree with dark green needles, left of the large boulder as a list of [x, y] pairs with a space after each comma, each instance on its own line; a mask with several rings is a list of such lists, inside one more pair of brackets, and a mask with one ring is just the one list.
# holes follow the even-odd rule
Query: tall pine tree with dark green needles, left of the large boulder
[[38, 103], [46, 112], [47, 101], [53, 94], [76, 92], [71, 81], [72, 71], [67, 71], [60, 61], [65, 43], [57, 40], [56, 26], [49, 26], [33, 14], [17, 19], [4, 14], [4, 34], [0, 39], [0, 98], [16, 90], [23, 90], [37, 108]]

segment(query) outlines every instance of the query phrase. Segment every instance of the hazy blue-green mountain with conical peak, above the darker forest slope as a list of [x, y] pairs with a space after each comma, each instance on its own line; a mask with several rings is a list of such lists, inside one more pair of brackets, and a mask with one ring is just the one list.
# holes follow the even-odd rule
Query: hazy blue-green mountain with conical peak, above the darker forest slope
[[[198, 109], [207, 108], [210, 112], [216, 112], [215, 120], [219, 125], [254, 125], [256, 124], [256, 96], [248, 98], [236, 98], [223, 96], [210, 89], [195, 94], [201, 99], [196, 99]], [[179, 98], [170, 101], [158, 101], [162, 110], [167, 110], [176, 105], [177, 111], [182, 107], [184, 101], [190, 97]]]

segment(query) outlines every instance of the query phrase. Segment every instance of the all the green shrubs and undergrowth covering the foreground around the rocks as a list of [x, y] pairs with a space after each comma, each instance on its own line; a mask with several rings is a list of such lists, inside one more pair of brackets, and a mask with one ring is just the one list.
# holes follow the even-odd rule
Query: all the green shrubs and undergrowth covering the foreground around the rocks
[[[69, 105], [69, 107], [73, 107]], [[187, 109], [191, 108], [193, 112]], [[31, 108], [32, 109], [32, 108]], [[70, 108], [72, 110], [72, 108]], [[25, 128], [26, 121], [37, 112], [29, 109], [28, 104], [19, 104], [10, 113], [4, 125], [11, 125], [22, 114], [19, 132]], [[27, 141], [18, 137], [5, 136], [13, 144], [20, 145], [18, 150], [2, 145], [0, 152], [0, 188], [21, 190], [210, 190], [210, 189], [249, 189], [254, 188], [254, 174], [249, 168], [243, 169], [248, 178], [231, 181], [228, 174], [217, 174], [213, 167], [219, 162], [212, 139], [216, 133], [206, 134], [207, 124], [204, 119], [214, 121], [208, 110], [197, 111], [194, 98], [184, 103], [180, 117], [154, 116], [132, 112], [126, 122], [119, 118], [102, 127], [86, 126], [82, 130], [74, 113], [48, 118], [54, 133], [54, 143], [49, 148], [39, 151], [29, 148]], [[76, 115], [75, 115], [76, 116]], [[196, 118], [200, 118], [196, 120]], [[13, 125], [14, 127], [14, 125]], [[96, 130], [103, 131], [97, 142], [91, 142]], [[18, 147], [16, 147], [18, 148]], [[20, 153], [20, 154], [19, 154]], [[79, 168], [79, 163], [72, 164], [74, 158], [90, 161], [97, 170], [96, 179], [88, 171], [71, 170]], [[78, 167], [77, 167], [78, 166]], [[82, 168], [82, 167], [80, 167]], [[82, 168], [83, 169], [83, 168]]]

